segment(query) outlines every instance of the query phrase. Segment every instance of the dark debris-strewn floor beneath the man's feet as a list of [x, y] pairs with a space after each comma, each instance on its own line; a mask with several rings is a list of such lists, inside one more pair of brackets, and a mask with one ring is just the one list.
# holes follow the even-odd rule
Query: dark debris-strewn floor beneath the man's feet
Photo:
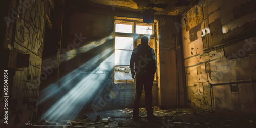
[[[88, 115], [87, 119], [83, 119], [84, 114]], [[154, 107], [154, 115], [159, 118], [159, 121], [154, 123], [146, 120], [145, 108], [140, 108], [142, 119], [139, 122], [134, 122], [131, 119], [132, 114], [132, 109], [127, 108], [97, 112], [101, 118], [98, 122], [103, 122], [103, 118], [109, 118], [108, 120], [112, 122], [109, 122], [108, 125], [104, 123], [90, 125], [95, 123], [97, 118], [94, 112], [81, 113], [73, 121], [59, 121], [58, 123], [74, 127], [121, 127], [118, 126], [118, 123], [123, 127], [256, 127], [256, 114], [234, 115], [227, 111], [212, 113], [191, 108], [161, 110]], [[87, 125], [83, 125], [83, 123]]]

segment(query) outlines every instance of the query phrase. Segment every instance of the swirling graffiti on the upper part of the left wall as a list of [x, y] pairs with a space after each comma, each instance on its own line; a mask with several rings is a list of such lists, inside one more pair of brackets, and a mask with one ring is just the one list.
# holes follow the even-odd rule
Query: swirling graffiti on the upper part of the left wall
[[43, 49], [44, 11], [44, 1], [31, 2], [16, 25], [15, 42], [39, 56]]

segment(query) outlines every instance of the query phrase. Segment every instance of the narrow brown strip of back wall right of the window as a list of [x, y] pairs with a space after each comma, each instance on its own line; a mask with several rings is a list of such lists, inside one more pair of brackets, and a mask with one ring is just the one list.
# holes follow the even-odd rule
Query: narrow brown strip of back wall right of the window
[[176, 107], [177, 100], [177, 67], [175, 17], [156, 16], [159, 20], [159, 59], [160, 59], [160, 106]]

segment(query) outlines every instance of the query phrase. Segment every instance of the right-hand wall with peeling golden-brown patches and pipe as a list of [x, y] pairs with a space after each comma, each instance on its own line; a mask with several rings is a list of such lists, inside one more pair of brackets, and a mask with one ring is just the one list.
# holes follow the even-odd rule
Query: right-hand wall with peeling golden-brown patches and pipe
[[[182, 16], [189, 106], [256, 112], [255, 3], [206, 0]], [[204, 28], [210, 30], [207, 35]]]

